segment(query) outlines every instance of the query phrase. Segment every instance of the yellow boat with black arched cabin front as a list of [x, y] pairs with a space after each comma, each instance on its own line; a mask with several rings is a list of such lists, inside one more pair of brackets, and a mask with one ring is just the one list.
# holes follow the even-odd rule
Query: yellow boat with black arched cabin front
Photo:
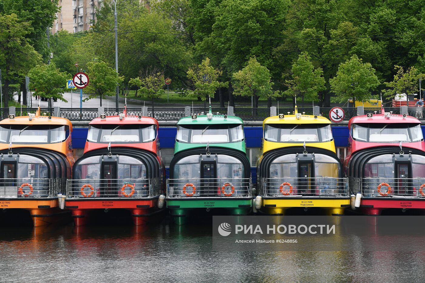
[[320, 207], [341, 215], [349, 207], [331, 122], [325, 117], [298, 113], [295, 105], [291, 115], [266, 118], [262, 150], [257, 168], [262, 212], [284, 215], [292, 207]]

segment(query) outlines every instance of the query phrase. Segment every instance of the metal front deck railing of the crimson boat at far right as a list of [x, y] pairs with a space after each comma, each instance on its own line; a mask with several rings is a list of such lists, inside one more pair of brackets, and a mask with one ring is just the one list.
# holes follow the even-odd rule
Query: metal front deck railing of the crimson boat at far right
[[349, 177], [350, 190], [363, 197], [425, 197], [425, 178]]

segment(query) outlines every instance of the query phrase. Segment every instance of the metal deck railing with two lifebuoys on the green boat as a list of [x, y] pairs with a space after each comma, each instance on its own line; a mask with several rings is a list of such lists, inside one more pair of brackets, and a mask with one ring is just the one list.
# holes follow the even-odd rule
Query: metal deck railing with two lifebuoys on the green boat
[[251, 178], [182, 178], [167, 180], [167, 198], [252, 197]]

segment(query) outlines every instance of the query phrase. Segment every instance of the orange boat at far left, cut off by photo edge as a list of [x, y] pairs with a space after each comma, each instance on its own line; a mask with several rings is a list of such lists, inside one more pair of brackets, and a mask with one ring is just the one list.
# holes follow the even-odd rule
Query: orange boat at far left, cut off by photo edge
[[40, 115], [40, 108], [0, 121], [0, 208], [28, 210], [34, 226], [65, 213], [58, 194], [74, 164], [71, 132], [68, 119]]

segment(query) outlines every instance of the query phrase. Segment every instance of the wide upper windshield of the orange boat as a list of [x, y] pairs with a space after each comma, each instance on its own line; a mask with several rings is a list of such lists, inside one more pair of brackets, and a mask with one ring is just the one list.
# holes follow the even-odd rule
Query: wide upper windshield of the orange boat
[[48, 144], [65, 141], [69, 127], [62, 125], [1, 125], [0, 142]]

